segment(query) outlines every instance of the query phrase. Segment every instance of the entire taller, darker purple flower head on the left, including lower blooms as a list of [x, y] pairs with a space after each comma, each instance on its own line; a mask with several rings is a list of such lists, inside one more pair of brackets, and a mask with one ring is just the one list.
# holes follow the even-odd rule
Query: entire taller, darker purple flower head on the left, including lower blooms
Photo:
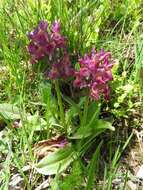
[[48, 23], [41, 21], [28, 37], [30, 40], [28, 51], [32, 64], [46, 58], [50, 79], [65, 79], [73, 75], [73, 68], [67, 53], [67, 40], [61, 35], [60, 22], [55, 21], [51, 30], [48, 30]]

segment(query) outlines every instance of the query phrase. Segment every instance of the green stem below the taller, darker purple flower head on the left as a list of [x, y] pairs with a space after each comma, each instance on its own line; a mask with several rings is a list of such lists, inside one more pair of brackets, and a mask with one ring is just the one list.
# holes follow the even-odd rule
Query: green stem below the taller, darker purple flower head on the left
[[62, 97], [61, 97], [61, 92], [60, 92], [60, 88], [59, 88], [59, 83], [58, 83], [57, 80], [55, 81], [55, 89], [56, 89], [57, 98], [58, 98], [58, 105], [59, 105], [59, 108], [60, 108], [60, 119], [61, 119], [62, 125], [65, 127], [64, 108], [63, 108], [63, 103], [62, 103]]

